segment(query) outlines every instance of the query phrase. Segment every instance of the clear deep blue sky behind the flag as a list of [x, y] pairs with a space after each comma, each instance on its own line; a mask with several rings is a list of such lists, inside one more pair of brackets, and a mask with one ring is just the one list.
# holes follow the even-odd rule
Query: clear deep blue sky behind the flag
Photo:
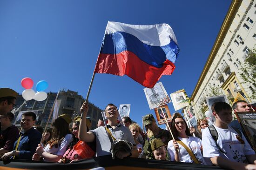
[[[0, 0], [0, 87], [22, 93], [22, 78], [46, 80], [46, 92], [70, 89], [86, 98], [108, 21], [169, 24], [180, 53], [175, 71], [160, 81], [168, 94], [190, 96], [231, 0]], [[130, 117], [152, 113], [143, 86], [128, 76], [96, 74], [89, 101], [131, 104]], [[168, 104], [171, 113], [172, 103]]]

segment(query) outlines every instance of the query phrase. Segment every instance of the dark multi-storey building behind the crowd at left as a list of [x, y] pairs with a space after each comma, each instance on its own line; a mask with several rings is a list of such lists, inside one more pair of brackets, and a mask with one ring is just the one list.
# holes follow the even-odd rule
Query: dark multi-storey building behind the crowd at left
[[[49, 114], [54, 107], [54, 101], [57, 96], [57, 92], [48, 92], [47, 99], [44, 101], [35, 101], [34, 99], [26, 101], [24, 103], [24, 99], [21, 95], [18, 95], [16, 100], [16, 105], [20, 110], [19, 111], [35, 111], [37, 113], [37, 121], [36, 124], [42, 127], [45, 127]], [[72, 119], [77, 115], [80, 115], [80, 107], [85, 99], [78, 94], [78, 92], [74, 92], [71, 90], [61, 90], [57, 99], [58, 102], [58, 115], [63, 113], [69, 114]], [[95, 129], [97, 127], [97, 122], [99, 118], [102, 118], [101, 111], [99, 107], [89, 102], [89, 111], [87, 117], [90, 117], [92, 121], [91, 129]], [[19, 114], [19, 111], [15, 112], [15, 118]], [[15, 121], [15, 118], [13, 121]], [[52, 118], [49, 119], [49, 124], [51, 124]]]

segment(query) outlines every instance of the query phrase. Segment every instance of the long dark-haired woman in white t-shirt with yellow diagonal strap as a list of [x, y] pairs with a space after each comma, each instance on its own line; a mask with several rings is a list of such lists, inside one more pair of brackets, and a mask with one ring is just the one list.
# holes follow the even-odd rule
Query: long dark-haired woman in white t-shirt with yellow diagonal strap
[[172, 118], [171, 131], [175, 140], [170, 140], [168, 143], [168, 156], [172, 161], [195, 163], [186, 148], [177, 143], [177, 141], [182, 141], [192, 151], [199, 163], [206, 164], [201, 151], [202, 140], [191, 136], [188, 125], [179, 113], [175, 113]]

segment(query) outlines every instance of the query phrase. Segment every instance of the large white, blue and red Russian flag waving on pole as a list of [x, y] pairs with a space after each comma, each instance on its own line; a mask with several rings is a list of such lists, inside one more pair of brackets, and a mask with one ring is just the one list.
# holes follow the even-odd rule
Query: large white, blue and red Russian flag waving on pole
[[162, 75], [172, 74], [179, 51], [168, 24], [108, 22], [94, 73], [126, 74], [153, 88]]

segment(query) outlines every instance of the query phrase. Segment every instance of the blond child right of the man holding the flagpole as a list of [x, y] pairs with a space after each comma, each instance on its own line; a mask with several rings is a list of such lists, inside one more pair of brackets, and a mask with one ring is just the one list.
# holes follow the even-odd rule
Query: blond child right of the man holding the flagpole
[[137, 140], [139, 134], [141, 133], [141, 128], [139, 124], [131, 124], [129, 126], [130, 131], [132, 132], [135, 144], [137, 146], [138, 152], [139, 152], [139, 158], [143, 156], [143, 145]]

